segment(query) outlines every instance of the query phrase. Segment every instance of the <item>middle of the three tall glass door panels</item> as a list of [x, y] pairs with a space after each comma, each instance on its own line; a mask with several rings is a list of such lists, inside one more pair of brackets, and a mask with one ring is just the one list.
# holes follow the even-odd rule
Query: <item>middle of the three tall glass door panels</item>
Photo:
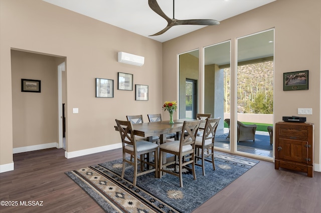
[[215, 147], [223, 149], [230, 149], [228, 123], [224, 121], [230, 118], [230, 51], [230, 41], [204, 48], [204, 112], [221, 117]]

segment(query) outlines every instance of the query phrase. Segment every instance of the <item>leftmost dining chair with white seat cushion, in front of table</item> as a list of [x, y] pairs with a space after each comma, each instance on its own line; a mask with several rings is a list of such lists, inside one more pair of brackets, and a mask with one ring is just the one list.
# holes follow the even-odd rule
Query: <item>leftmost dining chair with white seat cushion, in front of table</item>
[[[145, 140], [138, 140], [136, 141], [134, 137], [134, 131], [131, 121], [128, 120], [118, 120], [115, 119], [118, 127], [118, 131], [121, 137], [122, 143], [122, 172], [121, 178], [124, 178], [125, 169], [131, 166], [134, 167], [134, 176], [133, 176], [133, 185], [136, 185], [137, 176], [143, 175], [149, 172], [155, 172], [155, 177], [158, 177], [158, 154], [157, 154], [157, 147], [156, 143], [152, 143]], [[130, 160], [126, 158], [126, 153], [130, 154]], [[149, 160], [145, 160], [144, 158], [138, 158], [138, 156], [144, 156], [144, 154], [154, 154], [154, 162]], [[126, 167], [126, 163], [130, 164], [130, 166]], [[144, 166], [140, 166], [140, 172], [138, 172], [138, 163], [147, 164], [152, 166], [151, 169], [144, 169]], [[148, 168], [148, 166], [147, 166]]]

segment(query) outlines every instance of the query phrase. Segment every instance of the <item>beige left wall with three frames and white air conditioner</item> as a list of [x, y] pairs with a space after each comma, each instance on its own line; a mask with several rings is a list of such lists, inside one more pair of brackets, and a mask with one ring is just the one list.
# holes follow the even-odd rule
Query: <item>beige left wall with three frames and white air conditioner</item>
[[[13, 116], [13, 112], [19, 110], [15, 108], [18, 101], [15, 95], [32, 94], [12, 89], [17, 88], [12, 85], [12, 79], [20, 78], [12, 77], [12, 68], [23, 66], [12, 67], [11, 62], [15, 62], [11, 57], [12, 48], [66, 57], [63, 98], [68, 116], [67, 152], [119, 143], [119, 133], [113, 128], [115, 118], [126, 119], [127, 114], [143, 113], [148, 120], [147, 113], [162, 112], [161, 42], [42, 0], [1, 0], [0, 15], [0, 165], [13, 163], [13, 147], [47, 143], [52, 137], [58, 137], [58, 132], [56, 135], [50, 132], [50, 139], [36, 135], [36, 141], [26, 142], [16, 135], [22, 127]], [[144, 56], [145, 64], [119, 63], [118, 51]], [[132, 91], [117, 90], [117, 72], [132, 73], [134, 86], [149, 85], [149, 100], [135, 101], [135, 87]], [[31, 71], [26, 77], [33, 74]], [[95, 97], [96, 77], [114, 80], [114, 98]], [[74, 107], [79, 108], [79, 113], [72, 113]], [[29, 133], [32, 131], [26, 132]]]

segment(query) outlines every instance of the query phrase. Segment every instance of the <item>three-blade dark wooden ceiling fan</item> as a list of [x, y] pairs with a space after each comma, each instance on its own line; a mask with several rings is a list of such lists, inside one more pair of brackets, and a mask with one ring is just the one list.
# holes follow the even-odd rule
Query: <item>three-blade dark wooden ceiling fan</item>
[[158, 15], [161, 15], [163, 18], [165, 18], [165, 20], [167, 20], [168, 24], [167, 26], [162, 29], [161, 31], [149, 35], [149, 36], [154, 36], [154, 35], [160, 35], [163, 34], [164, 32], [166, 32], [169, 28], [171, 28], [172, 26], [176, 26], [176, 25], [182, 25], [182, 24], [192, 24], [192, 25], [217, 25], [220, 24], [219, 21], [217, 20], [213, 20], [213, 19], [187, 19], [187, 20], [179, 20], [176, 19], [174, 17], [174, 10], [175, 10], [175, 0], [173, 0], [173, 18], [168, 17], [163, 10], [161, 9], [161, 7], [159, 7], [158, 3], [156, 0], [148, 0], [148, 5], [149, 7], [156, 12]]

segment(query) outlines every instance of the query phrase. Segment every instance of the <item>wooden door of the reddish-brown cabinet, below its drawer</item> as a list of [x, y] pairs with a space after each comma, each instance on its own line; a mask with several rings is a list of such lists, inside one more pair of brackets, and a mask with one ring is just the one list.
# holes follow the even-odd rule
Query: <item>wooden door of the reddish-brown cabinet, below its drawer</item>
[[278, 142], [276, 152], [278, 152], [279, 159], [307, 162], [307, 141], [279, 138]]

